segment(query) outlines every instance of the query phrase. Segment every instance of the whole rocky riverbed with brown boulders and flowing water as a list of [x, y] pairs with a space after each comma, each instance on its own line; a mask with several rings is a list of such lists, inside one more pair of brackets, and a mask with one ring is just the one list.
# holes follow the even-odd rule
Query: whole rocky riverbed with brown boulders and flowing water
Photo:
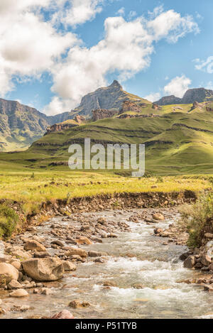
[[178, 219], [175, 208], [122, 209], [29, 226], [0, 243], [0, 318], [213, 317], [211, 272], [184, 267]]

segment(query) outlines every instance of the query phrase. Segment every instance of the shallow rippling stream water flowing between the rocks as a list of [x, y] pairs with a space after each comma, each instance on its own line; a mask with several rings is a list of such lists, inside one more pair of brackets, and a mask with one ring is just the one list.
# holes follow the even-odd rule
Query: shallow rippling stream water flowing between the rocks
[[[141, 209], [142, 211], [142, 209]], [[33, 294], [13, 299], [7, 291], [0, 292], [5, 305], [30, 305], [27, 312], [9, 311], [0, 318], [40, 318], [51, 317], [63, 309], [70, 310], [77, 318], [211, 318], [213, 317], [212, 293], [203, 291], [198, 285], [180, 283], [181, 280], [195, 278], [201, 273], [183, 268], [178, 258], [187, 250], [161, 237], [153, 236], [156, 224], [129, 222], [133, 212], [106, 211], [94, 213], [97, 217], [126, 222], [130, 231], [117, 232], [117, 238], [102, 239], [102, 243], [80, 246], [87, 251], [107, 252], [104, 263], [94, 263], [89, 258], [77, 265], [77, 271], [65, 274], [54, 283], [46, 283], [53, 288], [52, 295]], [[87, 217], [89, 213], [84, 213]], [[167, 218], [158, 223], [166, 228], [173, 219]], [[37, 236], [49, 237], [50, 226], [75, 223], [72, 219], [55, 217], [38, 226]], [[47, 236], [48, 235], [48, 236]], [[50, 248], [48, 251], [54, 251]], [[203, 275], [203, 273], [202, 273]], [[105, 283], [105, 286], [104, 286]], [[142, 289], [133, 288], [140, 284]], [[108, 286], [107, 286], [108, 285]], [[115, 285], [111, 287], [109, 285]], [[72, 300], [86, 301], [90, 307], [70, 309]]]

